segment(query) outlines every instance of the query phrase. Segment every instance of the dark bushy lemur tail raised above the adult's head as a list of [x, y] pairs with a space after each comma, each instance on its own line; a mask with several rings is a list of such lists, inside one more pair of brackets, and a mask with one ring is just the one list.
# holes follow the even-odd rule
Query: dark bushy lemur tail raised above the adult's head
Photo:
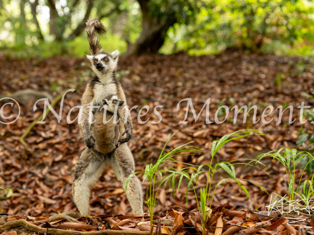
[[97, 19], [89, 19], [86, 22], [87, 39], [89, 42], [89, 51], [91, 55], [95, 55], [100, 51], [103, 51], [103, 47], [99, 42], [99, 38], [96, 33], [102, 35], [106, 32], [104, 25]]

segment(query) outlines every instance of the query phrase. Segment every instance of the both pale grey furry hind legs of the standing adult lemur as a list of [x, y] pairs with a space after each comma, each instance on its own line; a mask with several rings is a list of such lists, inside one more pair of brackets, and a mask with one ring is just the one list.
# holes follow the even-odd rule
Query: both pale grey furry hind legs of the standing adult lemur
[[[75, 178], [72, 194], [80, 214], [89, 214], [90, 188], [101, 176], [105, 166], [113, 169], [118, 181], [125, 188], [127, 178], [134, 172], [135, 164], [131, 151], [126, 143], [118, 147], [112, 154], [102, 154], [96, 150], [86, 148], [75, 167]], [[133, 176], [126, 191], [133, 213], [143, 214], [143, 191], [141, 183]]]

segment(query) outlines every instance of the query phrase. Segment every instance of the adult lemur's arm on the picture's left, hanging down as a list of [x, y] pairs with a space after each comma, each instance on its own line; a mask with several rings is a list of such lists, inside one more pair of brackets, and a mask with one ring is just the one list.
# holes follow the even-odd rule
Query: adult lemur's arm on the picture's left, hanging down
[[[82, 120], [82, 130], [84, 134], [84, 141], [86, 146], [90, 148], [94, 148], [94, 143], [92, 142], [92, 139], [95, 141], [95, 138], [90, 133], [90, 123], [88, 121], [89, 115], [90, 115], [90, 109], [88, 106], [90, 105], [90, 102], [93, 100], [93, 91], [90, 87], [90, 84], [87, 84], [86, 90], [82, 96], [81, 104], [82, 104], [82, 114], [81, 114], [81, 120]], [[91, 113], [91, 116], [93, 113]], [[92, 120], [93, 117], [91, 117]]]

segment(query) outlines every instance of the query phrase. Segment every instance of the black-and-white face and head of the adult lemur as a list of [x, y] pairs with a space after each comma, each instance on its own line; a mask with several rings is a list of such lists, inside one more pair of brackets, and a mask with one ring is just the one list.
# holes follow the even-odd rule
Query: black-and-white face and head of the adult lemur
[[92, 69], [97, 75], [106, 74], [109, 71], [115, 71], [118, 62], [119, 51], [115, 50], [112, 53], [99, 52], [96, 55], [87, 55], [87, 58], [92, 64]]

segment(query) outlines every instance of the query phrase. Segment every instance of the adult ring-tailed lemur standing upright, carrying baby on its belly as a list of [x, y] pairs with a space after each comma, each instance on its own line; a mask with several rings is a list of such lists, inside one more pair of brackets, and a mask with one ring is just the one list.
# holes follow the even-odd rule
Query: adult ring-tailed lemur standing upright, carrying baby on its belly
[[[122, 86], [115, 77], [119, 51], [115, 50], [112, 53], [103, 51], [96, 33], [105, 33], [105, 27], [96, 18], [86, 22], [86, 32], [91, 54], [87, 55], [87, 58], [90, 60], [91, 68], [96, 75], [86, 85], [85, 92], [81, 98], [82, 122], [80, 129], [88, 148], [81, 153], [78, 164], [75, 167], [72, 188], [74, 202], [79, 212], [83, 215], [89, 214], [90, 188], [96, 184], [105, 166], [113, 169], [117, 179], [122, 182], [124, 188], [127, 178], [135, 171], [134, 159], [126, 143], [132, 135], [131, 115], [127, 109], [126, 97]], [[113, 142], [119, 139], [119, 146], [117, 148], [112, 147], [112, 141], [109, 141], [110, 146], [114, 149], [110, 153], [108, 153], [110, 146], [101, 145], [108, 143], [106, 138], [112, 139], [110, 131], [106, 129], [111, 122], [103, 124], [96, 120], [92, 125], [92, 131], [90, 125], [93, 119], [91, 116], [95, 114], [95, 118], [97, 118], [99, 116], [97, 112], [101, 112], [97, 109], [90, 109], [90, 107], [102, 106], [103, 99], [108, 96], [111, 97], [111, 100], [112, 96], [116, 96], [116, 100], [122, 102], [121, 107], [119, 107], [121, 111], [119, 112], [119, 118], [121, 118], [121, 121], [118, 123], [118, 130], [111, 126], [115, 130], [114, 133], [120, 135], [117, 139], [113, 138]], [[120, 133], [122, 133], [122, 136], [127, 133], [127, 137], [123, 139]], [[94, 142], [96, 143], [96, 149], [94, 149]], [[143, 193], [140, 181], [136, 176], [133, 176], [129, 181], [126, 194], [133, 213], [143, 214]]]

